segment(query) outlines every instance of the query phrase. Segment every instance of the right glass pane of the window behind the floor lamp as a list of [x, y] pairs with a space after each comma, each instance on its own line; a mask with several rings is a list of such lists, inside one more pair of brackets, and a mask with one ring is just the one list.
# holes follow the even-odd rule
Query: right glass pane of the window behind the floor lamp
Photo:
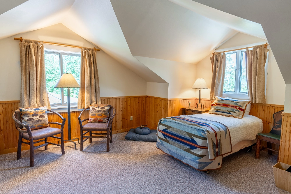
[[[63, 55], [63, 73], [72, 73], [78, 84], [80, 84], [81, 57]], [[70, 88], [70, 102], [78, 102], [79, 88]], [[64, 102], [67, 103], [68, 91], [64, 89]]]

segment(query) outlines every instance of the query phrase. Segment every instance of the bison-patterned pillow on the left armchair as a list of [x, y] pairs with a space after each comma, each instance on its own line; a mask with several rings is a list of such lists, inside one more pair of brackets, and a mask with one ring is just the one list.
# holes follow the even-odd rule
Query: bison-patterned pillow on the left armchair
[[[19, 108], [21, 114], [21, 122], [29, 125], [31, 130], [49, 127], [47, 119], [47, 107], [38, 108]], [[24, 127], [24, 130], [26, 128]]]

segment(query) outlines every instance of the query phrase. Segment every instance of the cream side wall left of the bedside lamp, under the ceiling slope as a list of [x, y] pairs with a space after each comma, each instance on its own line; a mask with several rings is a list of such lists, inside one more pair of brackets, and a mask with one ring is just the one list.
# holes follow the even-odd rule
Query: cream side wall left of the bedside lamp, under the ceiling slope
[[196, 65], [163, 59], [134, 56], [169, 84], [167, 98], [193, 98]]

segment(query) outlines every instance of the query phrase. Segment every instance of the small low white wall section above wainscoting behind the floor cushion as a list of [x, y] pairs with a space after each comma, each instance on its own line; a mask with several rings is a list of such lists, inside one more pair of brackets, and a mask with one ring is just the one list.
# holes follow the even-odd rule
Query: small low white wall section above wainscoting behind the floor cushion
[[168, 98], [169, 84], [147, 82], [147, 96]]

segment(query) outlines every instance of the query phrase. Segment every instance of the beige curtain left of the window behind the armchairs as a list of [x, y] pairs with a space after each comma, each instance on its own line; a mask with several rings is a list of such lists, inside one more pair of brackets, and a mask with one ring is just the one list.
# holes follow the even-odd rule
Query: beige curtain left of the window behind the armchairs
[[20, 48], [21, 91], [20, 107], [50, 109], [45, 80], [45, 50], [43, 43], [22, 39]]

